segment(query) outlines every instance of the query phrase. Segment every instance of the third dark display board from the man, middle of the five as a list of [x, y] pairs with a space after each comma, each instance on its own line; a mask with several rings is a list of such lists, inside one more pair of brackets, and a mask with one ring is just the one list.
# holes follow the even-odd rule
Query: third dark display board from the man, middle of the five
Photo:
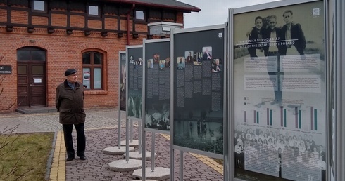
[[144, 125], [170, 130], [170, 39], [146, 40], [144, 50]]

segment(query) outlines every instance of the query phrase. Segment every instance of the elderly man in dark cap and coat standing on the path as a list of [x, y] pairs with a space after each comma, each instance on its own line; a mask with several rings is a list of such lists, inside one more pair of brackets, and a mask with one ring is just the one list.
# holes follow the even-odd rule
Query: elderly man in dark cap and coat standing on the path
[[63, 126], [63, 135], [68, 158], [66, 161], [75, 159], [73, 149], [72, 130], [73, 125], [77, 130], [77, 156], [85, 160], [85, 134], [84, 134], [84, 88], [81, 82], [77, 81], [77, 70], [67, 69], [66, 79], [56, 88], [56, 109], [58, 109], [59, 122]]

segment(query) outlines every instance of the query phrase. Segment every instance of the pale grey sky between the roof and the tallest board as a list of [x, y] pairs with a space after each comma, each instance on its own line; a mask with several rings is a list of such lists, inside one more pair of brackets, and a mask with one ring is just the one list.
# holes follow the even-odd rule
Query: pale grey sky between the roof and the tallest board
[[184, 13], [184, 28], [225, 23], [229, 8], [241, 8], [279, 0], [177, 0], [201, 9], [199, 13]]

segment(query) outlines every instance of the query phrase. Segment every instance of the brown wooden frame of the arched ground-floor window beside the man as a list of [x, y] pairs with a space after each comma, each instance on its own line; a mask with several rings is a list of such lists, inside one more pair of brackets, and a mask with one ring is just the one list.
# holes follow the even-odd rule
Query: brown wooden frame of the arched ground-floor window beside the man
[[[85, 53], [90, 53], [90, 63], [84, 64], [83, 58]], [[101, 55], [101, 64], [94, 64], [94, 55], [95, 53], [98, 53]], [[90, 69], [89, 73], [89, 88], [84, 88], [85, 91], [95, 91], [95, 90], [106, 90], [106, 53], [99, 50], [86, 50], [82, 52], [82, 73], [80, 75], [81, 82], [84, 84], [84, 68]], [[95, 68], [101, 68], [101, 88], [94, 88], [94, 69]]]

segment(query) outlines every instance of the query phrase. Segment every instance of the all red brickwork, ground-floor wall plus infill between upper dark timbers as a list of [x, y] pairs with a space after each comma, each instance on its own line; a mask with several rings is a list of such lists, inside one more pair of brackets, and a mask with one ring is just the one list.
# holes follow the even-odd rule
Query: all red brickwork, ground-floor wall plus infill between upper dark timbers
[[[183, 13], [177, 15], [177, 22], [183, 23]], [[51, 25], [66, 27], [67, 15], [52, 14]], [[11, 11], [11, 23], [27, 24], [28, 14], [25, 11]], [[6, 22], [7, 12], [0, 10], [0, 22]], [[32, 24], [47, 25], [48, 19], [44, 17], [32, 17]], [[84, 18], [72, 15], [70, 19], [71, 27], [84, 27]], [[101, 29], [101, 21], [89, 20], [90, 28]], [[105, 27], [117, 29], [118, 21], [115, 18], [106, 18]], [[130, 20], [130, 31], [132, 32], [132, 20]], [[135, 25], [135, 31], [147, 32], [144, 24]], [[127, 20], [120, 20], [120, 30], [127, 30]], [[129, 45], [142, 44], [142, 39], [146, 35], [139, 34], [139, 38], [133, 39], [130, 34]], [[159, 38], [153, 36], [153, 38]], [[89, 36], [84, 36], [84, 32], [73, 31], [73, 34], [66, 35], [63, 29], [54, 29], [53, 34], [48, 34], [46, 29], [35, 27], [35, 32], [28, 34], [27, 27], [13, 27], [13, 32], [6, 32], [5, 26], [0, 26], [0, 57], [4, 56], [0, 65], [11, 65], [12, 74], [6, 75], [0, 88], [4, 88], [4, 93], [0, 95], [0, 112], [11, 106], [17, 98], [17, 57], [16, 50], [25, 46], [35, 46], [46, 50], [46, 104], [48, 107], [55, 107], [56, 86], [65, 80], [65, 69], [73, 67], [80, 71], [82, 81], [82, 52], [100, 51], [104, 53], [105, 65], [103, 72], [106, 79], [103, 81], [104, 90], [86, 91], [85, 107], [118, 106], [118, 51], [125, 51], [127, 44], [127, 34], [123, 38], [118, 38], [117, 34], [108, 33], [102, 37], [100, 32], [92, 32]], [[31, 42], [33, 43], [31, 43]], [[4, 75], [0, 75], [2, 78]], [[11, 107], [8, 111], [16, 108]]]

